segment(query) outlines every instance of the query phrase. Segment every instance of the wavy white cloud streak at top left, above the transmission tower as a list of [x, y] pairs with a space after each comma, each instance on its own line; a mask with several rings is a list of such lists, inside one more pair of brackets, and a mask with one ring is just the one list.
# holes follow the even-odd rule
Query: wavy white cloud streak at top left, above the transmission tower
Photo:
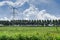
[[23, 5], [25, 2], [27, 2], [27, 0], [17, 0], [16, 2], [12, 2], [12, 1], [2, 1], [0, 2], [0, 6], [3, 6], [3, 5], [10, 5], [10, 6], [13, 6], [13, 7], [16, 7], [16, 6], [21, 6]]

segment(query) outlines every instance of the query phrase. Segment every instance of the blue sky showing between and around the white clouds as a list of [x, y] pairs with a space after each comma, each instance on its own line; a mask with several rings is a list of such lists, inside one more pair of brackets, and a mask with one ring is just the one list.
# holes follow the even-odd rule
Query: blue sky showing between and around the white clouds
[[[0, 0], [0, 4], [3, 1], [11, 1], [15, 3], [17, 1], [22, 1], [22, 0]], [[22, 13], [24, 13], [26, 9], [30, 8], [30, 4], [33, 5], [35, 8], [37, 8], [39, 11], [46, 10], [46, 12], [48, 12], [50, 15], [60, 17], [60, 0], [37, 0], [37, 1], [36, 0], [28, 0], [28, 1], [23, 0], [23, 1], [24, 1], [23, 4], [17, 7], [17, 10], [20, 14], [18, 18], [22, 17], [23, 19], [24, 15]], [[4, 4], [0, 6], [0, 18], [3, 18], [3, 17], [10, 18], [12, 16], [12, 9], [9, 7], [10, 6], [8, 4]]]

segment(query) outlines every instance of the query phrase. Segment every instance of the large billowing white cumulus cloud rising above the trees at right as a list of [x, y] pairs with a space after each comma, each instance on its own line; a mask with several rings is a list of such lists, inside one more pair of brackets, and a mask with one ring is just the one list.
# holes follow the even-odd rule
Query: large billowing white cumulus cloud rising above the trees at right
[[30, 6], [30, 8], [26, 9], [23, 12], [25, 18], [29, 20], [58, 20], [60, 17], [56, 17], [54, 15], [51, 15], [50, 13], [47, 13], [46, 10], [39, 11], [34, 6]]

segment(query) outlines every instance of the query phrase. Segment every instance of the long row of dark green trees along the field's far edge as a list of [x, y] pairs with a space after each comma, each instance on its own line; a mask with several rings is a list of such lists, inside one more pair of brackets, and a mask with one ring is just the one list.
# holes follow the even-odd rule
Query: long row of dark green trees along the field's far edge
[[11, 21], [0, 20], [0, 25], [60, 26], [60, 20], [11, 20]]

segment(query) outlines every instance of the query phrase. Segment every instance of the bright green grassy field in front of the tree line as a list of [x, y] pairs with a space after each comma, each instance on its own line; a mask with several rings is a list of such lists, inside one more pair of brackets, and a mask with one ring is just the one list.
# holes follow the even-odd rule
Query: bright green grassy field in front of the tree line
[[0, 27], [0, 40], [60, 40], [60, 27]]

